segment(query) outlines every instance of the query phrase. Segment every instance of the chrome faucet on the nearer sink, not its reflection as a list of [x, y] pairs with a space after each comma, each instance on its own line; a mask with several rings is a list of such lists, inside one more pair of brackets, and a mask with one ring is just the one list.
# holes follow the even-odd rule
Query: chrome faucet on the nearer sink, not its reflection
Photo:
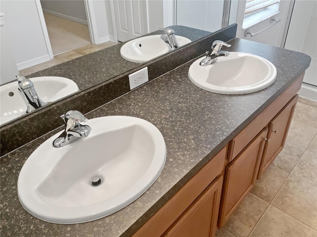
[[86, 122], [88, 118], [85, 118], [79, 111], [70, 110], [60, 118], [64, 120], [65, 130], [53, 141], [54, 147], [63, 147], [89, 135], [91, 127], [80, 124], [80, 122]]

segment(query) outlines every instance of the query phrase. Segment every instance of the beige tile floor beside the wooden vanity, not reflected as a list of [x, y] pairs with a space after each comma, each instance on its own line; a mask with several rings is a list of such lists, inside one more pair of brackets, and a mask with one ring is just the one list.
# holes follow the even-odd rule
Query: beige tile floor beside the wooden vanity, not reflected
[[299, 98], [284, 149], [216, 237], [317, 237], [317, 102]]

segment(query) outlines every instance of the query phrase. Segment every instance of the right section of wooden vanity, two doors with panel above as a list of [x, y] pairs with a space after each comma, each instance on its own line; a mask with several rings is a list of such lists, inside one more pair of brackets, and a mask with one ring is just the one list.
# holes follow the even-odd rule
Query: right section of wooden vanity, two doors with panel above
[[227, 159], [231, 162], [225, 169], [219, 229], [283, 149], [303, 77], [304, 74], [230, 141]]

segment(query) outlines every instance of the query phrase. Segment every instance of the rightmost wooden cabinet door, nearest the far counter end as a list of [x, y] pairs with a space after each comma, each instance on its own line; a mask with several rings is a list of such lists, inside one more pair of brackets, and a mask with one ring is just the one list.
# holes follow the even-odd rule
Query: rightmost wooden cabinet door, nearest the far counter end
[[258, 179], [284, 147], [297, 99], [298, 95], [294, 96], [294, 98], [285, 105], [268, 125], [267, 140], [264, 145], [264, 153], [260, 164]]

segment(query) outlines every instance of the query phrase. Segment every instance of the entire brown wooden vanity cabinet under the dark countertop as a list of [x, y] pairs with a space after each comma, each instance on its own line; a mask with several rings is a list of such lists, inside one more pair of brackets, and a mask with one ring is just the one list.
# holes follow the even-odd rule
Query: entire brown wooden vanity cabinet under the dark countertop
[[133, 237], [214, 237], [282, 150], [303, 78], [273, 100]]

